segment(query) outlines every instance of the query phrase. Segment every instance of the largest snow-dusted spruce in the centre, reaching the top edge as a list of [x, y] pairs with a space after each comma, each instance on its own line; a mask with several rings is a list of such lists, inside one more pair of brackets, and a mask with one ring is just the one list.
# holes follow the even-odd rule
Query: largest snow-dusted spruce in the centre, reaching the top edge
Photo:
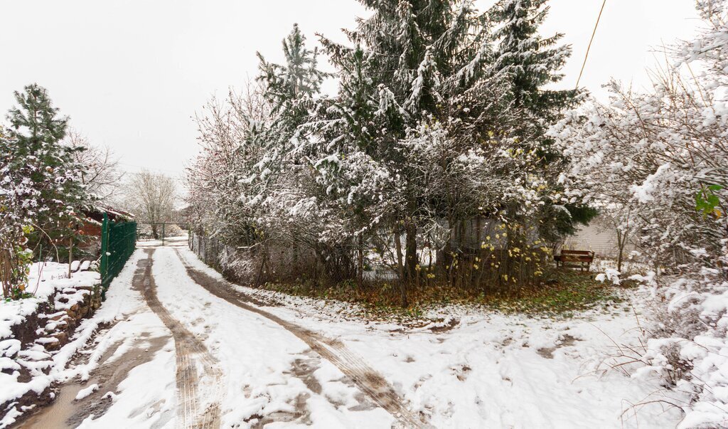
[[[421, 147], [414, 130], [428, 127], [447, 130], [452, 152], [442, 154], [443, 172], [458, 170], [459, 156], [472, 151], [482, 157], [497, 145], [483, 148], [496, 127], [507, 127], [505, 115], [496, 118], [502, 100], [490, 71], [492, 60], [486, 16], [470, 1], [363, 1], [373, 15], [349, 31], [349, 48], [323, 39], [333, 64], [339, 69], [341, 90], [331, 106], [324, 106], [322, 161], [333, 189], [346, 200], [361, 197], [361, 205], [389, 200], [394, 239], [405, 234], [407, 278], [416, 275], [417, 237], [447, 219], [475, 216], [492, 202], [483, 201], [487, 189], [457, 192], [459, 178], [449, 186], [432, 188], [431, 175], [410, 149]], [[501, 106], [505, 111], [505, 106]], [[414, 139], [414, 141], [412, 140]], [[419, 141], [422, 143], [422, 141]], [[413, 144], [410, 144], [413, 143]], [[324, 156], [325, 155], [325, 156]], [[493, 165], [498, 165], [499, 158]], [[389, 178], [386, 181], [382, 178]], [[331, 186], [330, 185], [330, 186]], [[366, 192], [367, 186], [371, 185]], [[381, 187], [384, 186], [384, 187]], [[467, 186], [463, 185], [463, 188]], [[331, 189], [331, 188], [330, 188]], [[352, 197], [353, 196], [353, 197]], [[457, 209], [455, 209], [457, 207]], [[480, 208], [480, 209], [478, 209]], [[355, 210], [356, 211], [356, 210]], [[381, 210], [369, 219], [382, 221]], [[363, 216], [367, 219], [367, 216]], [[372, 227], [368, 224], [359, 228]], [[397, 246], [398, 247], [398, 246]]]

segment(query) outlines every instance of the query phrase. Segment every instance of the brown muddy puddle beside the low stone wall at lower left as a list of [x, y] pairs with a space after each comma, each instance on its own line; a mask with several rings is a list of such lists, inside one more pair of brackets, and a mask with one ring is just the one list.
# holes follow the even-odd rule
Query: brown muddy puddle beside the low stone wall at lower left
[[[31, 414], [27, 419], [16, 425], [16, 428], [76, 428], [87, 417], [93, 415], [98, 418], [111, 407], [113, 399], [109, 392], [118, 393], [119, 383], [127, 378], [129, 371], [136, 366], [151, 361], [154, 354], [161, 350], [169, 336], [151, 338], [149, 334], [140, 336], [135, 345], [111, 361], [111, 357], [118, 350], [121, 343], [109, 348], [100, 359], [100, 366], [92, 371], [92, 377], [87, 382], [68, 382], [60, 385], [55, 393], [55, 401]], [[85, 398], [76, 400], [81, 390], [92, 385], [98, 389]]]

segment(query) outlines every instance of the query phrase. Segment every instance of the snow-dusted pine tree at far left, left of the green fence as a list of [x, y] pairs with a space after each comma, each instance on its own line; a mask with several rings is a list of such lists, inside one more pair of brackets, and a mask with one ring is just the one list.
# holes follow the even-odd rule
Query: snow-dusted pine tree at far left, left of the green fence
[[28, 216], [36, 228], [31, 245], [46, 243], [45, 250], [61, 238], [74, 234], [81, 221], [81, 210], [89, 202], [82, 185], [82, 166], [74, 160], [74, 151], [61, 144], [66, 136], [67, 117], [58, 117], [44, 87], [31, 84], [23, 92], [15, 92], [17, 107], [9, 110], [7, 119], [7, 170], [28, 171], [36, 197]]

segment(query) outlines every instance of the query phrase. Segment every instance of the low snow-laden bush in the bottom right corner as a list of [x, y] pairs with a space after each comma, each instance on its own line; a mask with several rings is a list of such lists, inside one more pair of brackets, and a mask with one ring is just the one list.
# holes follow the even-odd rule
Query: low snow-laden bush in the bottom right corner
[[630, 347], [618, 367], [631, 366], [637, 379], [659, 377], [684, 394], [687, 401], [670, 402], [686, 413], [678, 428], [728, 425], [728, 282], [719, 271], [662, 278], [661, 286], [654, 272], [633, 276], [654, 287], [657, 304], [642, 325], [644, 342]]

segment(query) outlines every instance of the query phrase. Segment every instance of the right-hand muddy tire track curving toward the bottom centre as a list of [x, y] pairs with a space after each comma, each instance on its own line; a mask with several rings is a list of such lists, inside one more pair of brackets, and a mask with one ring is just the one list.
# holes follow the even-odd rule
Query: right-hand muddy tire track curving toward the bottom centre
[[381, 374], [371, 368], [371, 366], [368, 366], [362, 358], [347, 349], [343, 343], [338, 340], [326, 338], [295, 323], [290, 323], [288, 320], [283, 320], [277, 315], [261, 310], [251, 304], [253, 299], [250, 299], [250, 296], [236, 291], [229, 283], [223, 280], [215, 279], [205, 272], [194, 269], [187, 264], [179, 249], [175, 249], [175, 253], [177, 253], [178, 258], [187, 270], [187, 274], [195, 283], [205, 288], [210, 294], [224, 299], [243, 310], [254, 312], [272, 320], [291, 334], [297, 336], [298, 339], [305, 342], [306, 345], [311, 347], [322, 358], [333, 363], [344, 375], [352, 379], [352, 382], [363, 393], [368, 395], [375, 404], [381, 406], [389, 414], [392, 414], [392, 417], [395, 417], [400, 425], [406, 428], [429, 427], [429, 425], [424, 424], [422, 420], [407, 409], [403, 400], [395, 393], [395, 390]]

